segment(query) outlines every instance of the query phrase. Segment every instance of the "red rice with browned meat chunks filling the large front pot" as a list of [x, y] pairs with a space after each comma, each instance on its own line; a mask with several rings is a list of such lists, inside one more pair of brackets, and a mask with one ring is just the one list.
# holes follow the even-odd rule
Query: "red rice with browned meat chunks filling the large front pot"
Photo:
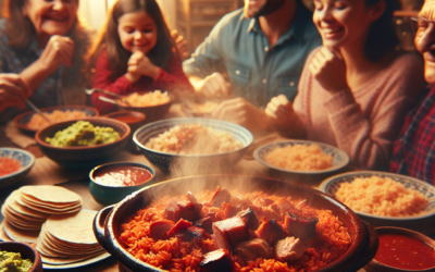
[[351, 238], [332, 211], [301, 200], [220, 187], [160, 197], [121, 225], [119, 242], [170, 271], [312, 271], [343, 256]]

